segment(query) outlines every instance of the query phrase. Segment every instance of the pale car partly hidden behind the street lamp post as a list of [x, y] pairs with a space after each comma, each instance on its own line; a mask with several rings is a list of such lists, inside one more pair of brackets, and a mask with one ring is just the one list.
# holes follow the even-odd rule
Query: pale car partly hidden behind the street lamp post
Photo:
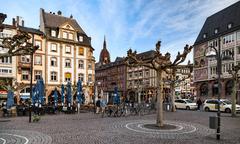
[[[218, 100], [217, 99], [206, 99], [203, 103], [203, 109], [205, 111], [217, 111]], [[231, 113], [232, 102], [228, 99], [220, 99], [220, 111]], [[240, 112], [240, 105], [236, 104], [236, 112]]]

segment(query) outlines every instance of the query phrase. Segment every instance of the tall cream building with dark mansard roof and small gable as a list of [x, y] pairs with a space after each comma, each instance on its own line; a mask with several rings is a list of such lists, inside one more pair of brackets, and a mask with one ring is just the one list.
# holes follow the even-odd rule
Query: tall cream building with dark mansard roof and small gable
[[76, 85], [80, 79], [83, 82], [86, 103], [89, 103], [93, 90], [89, 89], [88, 84], [94, 82], [95, 77], [91, 38], [72, 15], [62, 16], [61, 11], [55, 14], [40, 9], [40, 30], [46, 36], [46, 96], [51, 96], [56, 87], [60, 91], [61, 84], [66, 85], [70, 81], [72, 85]]

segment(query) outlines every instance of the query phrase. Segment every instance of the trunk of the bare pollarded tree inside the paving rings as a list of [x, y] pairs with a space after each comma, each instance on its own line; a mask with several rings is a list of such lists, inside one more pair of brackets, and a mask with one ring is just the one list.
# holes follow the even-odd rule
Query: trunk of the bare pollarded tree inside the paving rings
[[162, 81], [162, 70], [157, 71], [157, 126], [163, 127], [163, 81]]

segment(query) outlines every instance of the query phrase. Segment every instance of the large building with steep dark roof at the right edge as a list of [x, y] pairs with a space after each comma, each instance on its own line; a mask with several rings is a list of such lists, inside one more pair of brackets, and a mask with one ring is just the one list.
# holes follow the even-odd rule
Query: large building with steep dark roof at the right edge
[[[205, 50], [211, 46], [220, 46], [222, 56], [232, 57], [232, 60], [222, 60], [220, 92], [222, 98], [230, 99], [233, 83], [228, 71], [240, 62], [240, 2], [208, 17], [194, 43], [194, 84], [197, 96], [204, 99], [216, 98], [218, 94], [217, 61], [205, 57]], [[238, 102], [239, 87], [238, 84]]]

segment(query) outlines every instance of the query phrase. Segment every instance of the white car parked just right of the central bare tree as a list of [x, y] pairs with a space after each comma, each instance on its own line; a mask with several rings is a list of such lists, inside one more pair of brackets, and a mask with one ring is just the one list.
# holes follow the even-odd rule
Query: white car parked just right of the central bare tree
[[197, 104], [190, 99], [177, 99], [175, 100], [175, 108], [193, 110], [197, 109]]

